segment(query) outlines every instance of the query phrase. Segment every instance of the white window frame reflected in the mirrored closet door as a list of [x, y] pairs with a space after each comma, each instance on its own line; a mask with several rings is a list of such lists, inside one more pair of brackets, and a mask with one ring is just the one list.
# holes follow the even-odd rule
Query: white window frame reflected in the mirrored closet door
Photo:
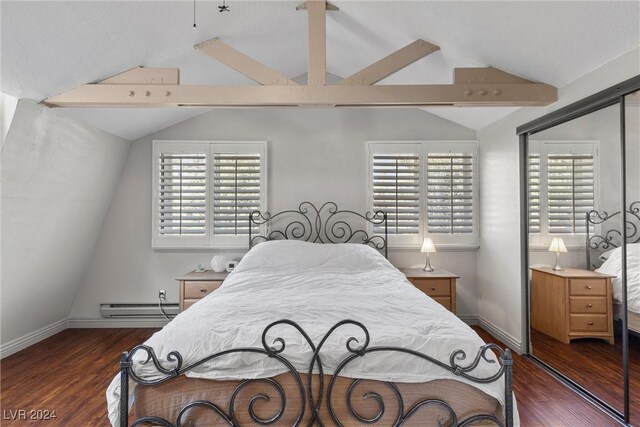
[[[581, 147], [591, 146], [594, 156], [594, 168], [593, 168], [593, 204], [594, 208], [600, 205], [600, 141], [598, 140], [537, 140], [529, 141], [529, 153], [540, 153], [540, 232], [529, 233], [529, 247], [534, 249], [548, 248], [551, 244], [551, 240], [554, 237], [562, 237], [568, 250], [579, 249], [584, 247], [586, 239], [586, 233], [575, 234], [552, 234], [549, 233], [547, 223], [547, 200], [548, 200], [548, 187], [547, 187], [547, 155], [549, 154], [549, 146], [563, 145], [565, 147], [575, 146]], [[555, 152], [555, 150], [554, 150]], [[563, 151], [564, 152], [564, 151]], [[582, 152], [587, 152], [583, 150]], [[529, 155], [527, 153], [527, 156]], [[527, 219], [528, 220], [528, 219]], [[595, 226], [595, 233], [600, 230], [600, 226]]]

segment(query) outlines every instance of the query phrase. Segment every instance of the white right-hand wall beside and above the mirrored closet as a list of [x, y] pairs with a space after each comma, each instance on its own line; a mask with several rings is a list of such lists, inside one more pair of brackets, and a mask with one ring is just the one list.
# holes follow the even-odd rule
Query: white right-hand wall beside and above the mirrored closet
[[516, 127], [640, 74], [640, 48], [580, 77], [559, 90], [559, 101], [523, 108], [478, 132], [480, 141], [479, 315], [511, 336], [523, 337], [520, 280], [520, 212]]

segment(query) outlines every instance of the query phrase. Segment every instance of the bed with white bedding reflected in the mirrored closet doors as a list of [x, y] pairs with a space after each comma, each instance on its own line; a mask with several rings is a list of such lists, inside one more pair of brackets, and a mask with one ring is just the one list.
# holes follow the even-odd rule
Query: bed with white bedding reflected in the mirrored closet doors
[[[630, 331], [640, 334], [640, 201], [633, 202], [626, 210], [625, 233], [627, 238], [627, 321]], [[612, 214], [593, 210], [587, 221], [598, 233], [587, 227], [587, 266], [599, 273], [616, 276], [613, 287], [613, 318], [621, 319], [622, 305], [622, 233], [621, 212]], [[596, 228], [597, 227], [597, 228]]]

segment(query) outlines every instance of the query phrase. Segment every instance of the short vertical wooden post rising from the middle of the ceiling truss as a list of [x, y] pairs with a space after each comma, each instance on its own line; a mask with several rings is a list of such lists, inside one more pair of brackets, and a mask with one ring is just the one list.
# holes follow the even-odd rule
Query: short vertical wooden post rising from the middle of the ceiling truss
[[327, 72], [327, 20], [326, 2], [309, 0], [309, 68], [307, 70], [309, 86], [324, 86]]

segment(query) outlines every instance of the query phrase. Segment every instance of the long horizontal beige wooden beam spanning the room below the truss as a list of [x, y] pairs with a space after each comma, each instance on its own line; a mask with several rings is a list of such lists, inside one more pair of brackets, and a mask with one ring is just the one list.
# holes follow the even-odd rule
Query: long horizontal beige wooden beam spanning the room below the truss
[[453, 85], [189, 86], [83, 85], [52, 107], [538, 106], [558, 98], [542, 83]]

